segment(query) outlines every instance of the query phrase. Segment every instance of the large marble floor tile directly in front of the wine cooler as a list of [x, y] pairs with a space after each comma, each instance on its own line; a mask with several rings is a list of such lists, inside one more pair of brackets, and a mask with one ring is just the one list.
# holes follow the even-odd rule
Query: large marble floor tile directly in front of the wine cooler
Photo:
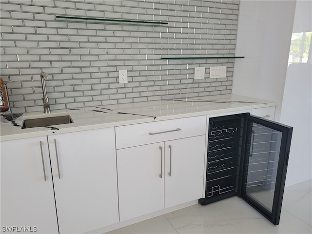
[[194, 205], [165, 215], [179, 234], [311, 233], [311, 226], [282, 211], [281, 224], [273, 225], [239, 197], [206, 206]]

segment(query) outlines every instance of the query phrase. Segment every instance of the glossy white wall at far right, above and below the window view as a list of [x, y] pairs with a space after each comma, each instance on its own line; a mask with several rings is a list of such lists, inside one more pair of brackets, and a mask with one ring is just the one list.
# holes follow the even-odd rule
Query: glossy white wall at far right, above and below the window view
[[[293, 33], [312, 31], [312, 1], [298, 0]], [[312, 65], [290, 64], [280, 122], [293, 127], [286, 186], [312, 178]]]

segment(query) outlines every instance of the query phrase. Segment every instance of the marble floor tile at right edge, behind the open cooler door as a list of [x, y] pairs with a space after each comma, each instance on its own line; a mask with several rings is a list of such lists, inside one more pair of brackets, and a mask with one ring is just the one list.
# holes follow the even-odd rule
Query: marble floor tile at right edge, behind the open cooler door
[[312, 226], [312, 180], [285, 188], [282, 208]]

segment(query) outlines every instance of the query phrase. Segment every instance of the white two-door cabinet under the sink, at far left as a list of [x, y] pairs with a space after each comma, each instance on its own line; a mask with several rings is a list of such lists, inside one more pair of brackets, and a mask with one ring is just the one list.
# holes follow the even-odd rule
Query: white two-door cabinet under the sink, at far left
[[1, 226], [77, 234], [117, 223], [115, 149], [114, 128], [1, 142]]

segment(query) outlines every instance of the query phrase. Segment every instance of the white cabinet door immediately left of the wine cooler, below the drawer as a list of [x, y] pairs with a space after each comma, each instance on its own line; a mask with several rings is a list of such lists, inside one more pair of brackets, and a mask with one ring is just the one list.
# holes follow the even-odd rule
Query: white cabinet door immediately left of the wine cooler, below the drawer
[[205, 136], [165, 142], [165, 208], [202, 197]]

